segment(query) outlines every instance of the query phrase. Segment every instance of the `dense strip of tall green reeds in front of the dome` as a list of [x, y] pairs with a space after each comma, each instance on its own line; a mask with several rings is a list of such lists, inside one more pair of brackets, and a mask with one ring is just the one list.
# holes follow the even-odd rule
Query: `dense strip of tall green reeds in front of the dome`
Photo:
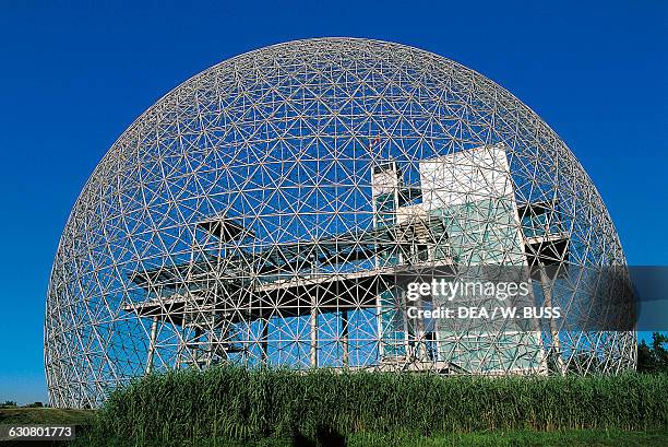
[[335, 433], [646, 430], [668, 425], [668, 376], [441, 377], [248, 370], [153, 375], [111, 393], [100, 433], [156, 440]]

